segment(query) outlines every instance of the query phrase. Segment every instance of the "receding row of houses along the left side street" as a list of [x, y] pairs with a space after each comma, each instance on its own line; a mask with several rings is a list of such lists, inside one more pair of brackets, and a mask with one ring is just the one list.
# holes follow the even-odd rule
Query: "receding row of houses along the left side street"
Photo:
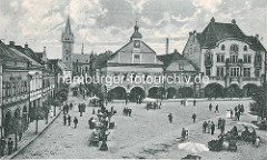
[[[61, 66], [60, 66], [61, 63]], [[13, 133], [14, 120], [22, 131], [33, 120], [34, 109], [48, 104], [55, 97], [57, 78], [66, 68], [60, 60], [48, 60], [46, 47], [36, 52], [24, 47], [0, 41], [0, 126], [1, 136]], [[59, 71], [61, 70], [61, 71]]]

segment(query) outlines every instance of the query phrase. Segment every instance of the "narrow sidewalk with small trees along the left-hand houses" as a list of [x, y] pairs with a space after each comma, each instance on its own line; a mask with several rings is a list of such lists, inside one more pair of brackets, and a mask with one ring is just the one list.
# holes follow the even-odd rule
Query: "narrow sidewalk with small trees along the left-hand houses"
[[[12, 159], [16, 157], [21, 150], [23, 150], [27, 146], [29, 146], [32, 141], [34, 141], [61, 113], [59, 107], [56, 108], [56, 117], [48, 117], [48, 123], [46, 124], [46, 120], [38, 121], [38, 133], [36, 133], [36, 121], [29, 123], [29, 128], [26, 132], [23, 132], [21, 141], [18, 141], [18, 149], [13, 151], [11, 154], [6, 154], [1, 157], [1, 159]], [[10, 136], [12, 139], [14, 136]], [[14, 140], [13, 140], [14, 143]]]

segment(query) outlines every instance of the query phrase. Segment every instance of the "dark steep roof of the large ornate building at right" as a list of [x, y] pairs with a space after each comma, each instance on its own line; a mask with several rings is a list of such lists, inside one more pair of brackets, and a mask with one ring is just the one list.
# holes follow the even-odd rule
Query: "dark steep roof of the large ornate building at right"
[[254, 50], [265, 50], [264, 46], [255, 37], [246, 36], [233, 20], [231, 23], [215, 22], [212, 18], [201, 33], [197, 33], [197, 39], [204, 48], [215, 48], [217, 42], [224, 39], [244, 40]]

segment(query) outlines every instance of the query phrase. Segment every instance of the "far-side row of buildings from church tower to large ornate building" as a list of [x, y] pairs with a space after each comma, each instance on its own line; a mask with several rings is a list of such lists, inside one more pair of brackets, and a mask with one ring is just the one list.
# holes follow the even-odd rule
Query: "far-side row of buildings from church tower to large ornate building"
[[[211, 18], [201, 32], [189, 32], [181, 53], [169, 52], [168, 38], [166, 52], [157, 53], [142, 40], [138, 24], [129, 37], [113, 53], [97, 56], [81, 51], [77, 54], [72, 52], [75, 38], [68, 18], [61, 41], [69, 74], [120, 78], [119, 83], [113, 79], [100, 81], [101, 91], [115, 99], [132, 100], [136, 97], [246, 97], [251, 88], [264, 83], [266, 49], [258, 34], [245, 34], [235, 19], [222, 23]], [[226, 93], [228, 88], [235, 92]]]

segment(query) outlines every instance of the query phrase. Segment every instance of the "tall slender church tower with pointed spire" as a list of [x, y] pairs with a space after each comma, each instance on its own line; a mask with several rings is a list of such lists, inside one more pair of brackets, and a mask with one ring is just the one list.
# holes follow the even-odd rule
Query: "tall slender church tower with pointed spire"
[[72, 70], [71, 54], [73, 53], [75, 37], [70, 28], [70, 18], [68, 17], [65, 31], [61, 36], [62, 42], [62, 62], [67, 66], [68, 70]]

